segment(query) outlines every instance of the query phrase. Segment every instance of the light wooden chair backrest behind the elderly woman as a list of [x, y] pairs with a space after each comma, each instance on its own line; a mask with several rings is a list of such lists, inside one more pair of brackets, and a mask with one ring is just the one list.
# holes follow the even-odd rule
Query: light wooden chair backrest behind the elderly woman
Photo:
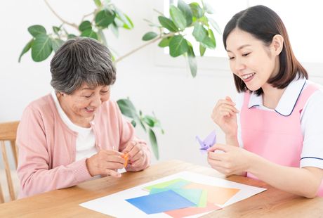
[[[13, 158], [15, 159], [15, 168], [18, 166], [18, 149], [15, 146], [15, 138], [17, 136], [18, 121], [15, 122], [4, 122], [0, 123], [0, 144], [2, 151], [2, 159], [4, 160], [4, 168], [6, 170], [6, 179], [8, 184], [8, 190], [10, 194], [10, 199], [15, 200], [15, 191], [13, 188], [13, 179], [11, 177], [11, 169], [9, 167], [8, 155], [6, 152], [6, 143], [11, 145]], [[0, 186], [0, 203], [4, 203], [4, 194]]]

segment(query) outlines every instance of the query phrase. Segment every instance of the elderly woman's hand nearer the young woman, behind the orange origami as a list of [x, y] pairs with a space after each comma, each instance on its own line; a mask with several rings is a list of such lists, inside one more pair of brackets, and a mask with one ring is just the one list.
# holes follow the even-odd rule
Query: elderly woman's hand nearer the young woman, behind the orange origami
[[143, 143], [140, 141], [130, 141], [126, 145], [126, 148], [122, 150], [122, 153], [128, 153], [128, 166], [126, 167], [129, 171], [136, 171], [141, 169], [145, 164], [146, 155], [143, 151]]

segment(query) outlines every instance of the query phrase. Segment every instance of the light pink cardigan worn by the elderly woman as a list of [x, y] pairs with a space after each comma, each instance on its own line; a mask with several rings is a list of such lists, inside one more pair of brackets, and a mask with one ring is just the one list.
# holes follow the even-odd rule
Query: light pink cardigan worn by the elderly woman
[[[96, 111], [91, 123], [98, 149], [123, 150], [135, 139], [133, 126], [124, 120], [117, 103], [107, 101]], [[91, 179], [86, 158], [75, 162], [77, 133], [61, 120], [51, 95], [39, 98], [25, 109], [17, 132], [19, 148], [19, 198], [67, 188]], [[150, 164], [150, 148], [145, 144], [145, 165], [128, 167], [139, 171]]]

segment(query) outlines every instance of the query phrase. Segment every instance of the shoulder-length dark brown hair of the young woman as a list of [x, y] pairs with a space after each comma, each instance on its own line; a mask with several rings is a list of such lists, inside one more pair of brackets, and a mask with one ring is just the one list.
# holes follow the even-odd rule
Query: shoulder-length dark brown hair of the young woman
[[[276, 34], [280, 34], [284, 38], [283, 49], [279, 54], [279, 72], [275, 77], [268, 80], [268, 83], [272, 84], [273, 87], [284, 89], [296, 76], [308, 79], [308, 72], [306, 72], [305, 68], [303, 68], [294, 56], [286, 27], [275, 11], [272, 11], [266, 6], [259, 5], [246, 8], [244, 11], [235, 14], [225, 26], [223, 32], [225, 49], [227, 49], [226, 41], [228, 35], [235, 28], [249, 32], [253, 37], [263, 41], [267, 46], [270, 45], [272, 38]], [[237, 75], [234, 75], [234, 79], [237, 91], [242, 92], [248, 90], [246, 84]], [[257, 95], [262, 93], [263, 89], [256, 91]]]

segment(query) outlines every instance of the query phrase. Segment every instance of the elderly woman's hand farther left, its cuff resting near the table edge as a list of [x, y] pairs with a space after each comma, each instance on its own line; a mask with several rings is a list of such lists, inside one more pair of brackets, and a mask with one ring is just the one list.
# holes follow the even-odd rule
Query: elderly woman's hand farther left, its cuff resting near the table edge
[[91, 158], [86, 159], [86, 167], [91, 176], [106, 174], [112, 177], [121, 177], [117, 169], [124, 168], [123, 153], [117, 150], [100, 150]]

